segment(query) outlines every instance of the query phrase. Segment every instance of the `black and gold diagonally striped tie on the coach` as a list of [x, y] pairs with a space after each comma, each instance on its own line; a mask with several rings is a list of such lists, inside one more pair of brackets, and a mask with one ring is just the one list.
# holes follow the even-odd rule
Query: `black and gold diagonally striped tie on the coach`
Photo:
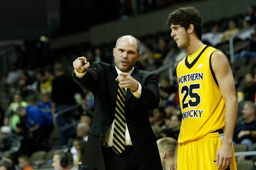
[[117, 155], [125, 150], [125, 93], [125, 89], [118, 84], [113, 134], [113, 150]]

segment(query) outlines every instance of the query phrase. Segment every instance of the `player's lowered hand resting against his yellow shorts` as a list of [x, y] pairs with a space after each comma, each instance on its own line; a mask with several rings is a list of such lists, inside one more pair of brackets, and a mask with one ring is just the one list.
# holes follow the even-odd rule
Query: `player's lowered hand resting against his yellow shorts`
[[226, 169], [232, 161], [232, 143], [222, 143], [216, 153], [216, 165], [219, 169]]

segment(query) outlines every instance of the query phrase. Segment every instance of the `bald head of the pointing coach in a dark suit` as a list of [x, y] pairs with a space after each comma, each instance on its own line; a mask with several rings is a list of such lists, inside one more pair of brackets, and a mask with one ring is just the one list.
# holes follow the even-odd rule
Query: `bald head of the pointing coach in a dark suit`
[[141, 53], [137, 52], [137, 42], [132, 36], [122, 37], [113, 49], [116, 67], [122, 72], [128, 72], [139, 60]]

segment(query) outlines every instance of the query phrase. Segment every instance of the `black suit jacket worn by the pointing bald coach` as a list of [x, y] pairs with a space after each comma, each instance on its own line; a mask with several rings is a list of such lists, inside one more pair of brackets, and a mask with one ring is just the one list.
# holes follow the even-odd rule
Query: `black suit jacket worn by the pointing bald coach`
[[[82, 164], [99, 170], [105, 169], [101, 144], [104, 134], [114, 120], [118, 89], [118, 81], [115, 81], [117, 76], [115, 65], [100, 62], [94, 62], [82, 79], [73, 76], [78, 85], [94, 94], [95, 116]], [[138, 70], [135, 67], [131, 76], [142, 86], [139, 100], [132, 95], [130, 89], [127, 89], [125, 98], [125, 119], [134, 153], [143, 170], [162, 170], [156, 136], [148, 115], [149, 109], [155, 109], [159, 105], [159, 75]]]

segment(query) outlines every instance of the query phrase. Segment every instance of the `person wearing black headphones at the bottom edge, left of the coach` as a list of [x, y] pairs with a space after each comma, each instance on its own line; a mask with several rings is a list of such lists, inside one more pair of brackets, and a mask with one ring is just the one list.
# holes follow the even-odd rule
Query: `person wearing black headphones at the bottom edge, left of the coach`
[[57, 150], [53, 156], [53, 164], [55, 170], [77, 170], [73, 164], [73, 156], [70, 149]]

